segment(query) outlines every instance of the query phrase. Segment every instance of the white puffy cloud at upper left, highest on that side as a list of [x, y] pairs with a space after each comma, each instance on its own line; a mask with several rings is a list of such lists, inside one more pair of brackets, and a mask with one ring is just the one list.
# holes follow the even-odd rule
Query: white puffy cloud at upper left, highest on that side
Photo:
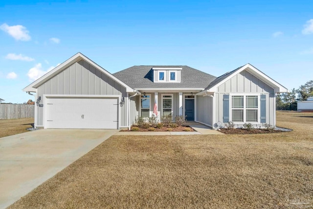
[[28, 35], [29, 31], [23, 25], [12, 25], [9, 26], [6, 23], [0, 25], [0, 29], [8, 33], [16, 40], [29, 41], [31, 38]]

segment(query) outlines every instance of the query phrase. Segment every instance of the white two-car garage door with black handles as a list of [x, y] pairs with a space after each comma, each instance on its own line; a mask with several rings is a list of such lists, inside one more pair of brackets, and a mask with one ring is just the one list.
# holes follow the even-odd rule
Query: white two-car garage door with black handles
[[46, 98], [45, 128], [118, 129], [117, 98]]

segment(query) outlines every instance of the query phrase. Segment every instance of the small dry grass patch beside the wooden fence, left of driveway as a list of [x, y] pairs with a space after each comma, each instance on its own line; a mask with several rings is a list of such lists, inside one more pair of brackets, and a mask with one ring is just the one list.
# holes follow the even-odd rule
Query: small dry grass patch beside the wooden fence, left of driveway
[[26, 128], [31, 128], [31, 123], [34, 118], [0, 120], [0, 138], [28, 132]]

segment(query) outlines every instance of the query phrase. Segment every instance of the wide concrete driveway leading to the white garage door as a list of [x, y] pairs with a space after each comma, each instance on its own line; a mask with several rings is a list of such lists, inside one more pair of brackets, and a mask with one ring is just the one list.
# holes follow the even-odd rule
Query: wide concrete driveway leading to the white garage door
[[0, 209], [13, 204], [117, 131], [43, 129], [0, 138]]

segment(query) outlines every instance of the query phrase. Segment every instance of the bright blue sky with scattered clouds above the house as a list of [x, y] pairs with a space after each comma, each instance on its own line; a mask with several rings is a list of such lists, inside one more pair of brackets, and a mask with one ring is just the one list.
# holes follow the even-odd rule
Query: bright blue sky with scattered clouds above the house
[[77, 52], [111, 73], [188, 65], [220, 76], [250, 63], [287, 87], [313, 79], [312, 0], [1, 0], [0, 98]]

